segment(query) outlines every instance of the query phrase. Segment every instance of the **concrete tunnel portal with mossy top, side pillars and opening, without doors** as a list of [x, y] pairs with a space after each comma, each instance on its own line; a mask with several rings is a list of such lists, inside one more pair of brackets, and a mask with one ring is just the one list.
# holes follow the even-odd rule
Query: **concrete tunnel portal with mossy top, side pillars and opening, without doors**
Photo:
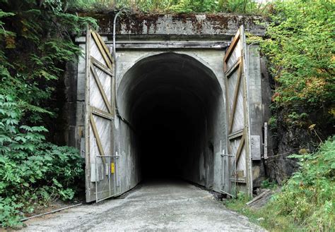
[[[96, 16], [100, 34], [112, 51], [112, 18]], [[264, 35], [257, 17], [230, 15], [124, 16], [117, 23], [114, 153], [119, 193], [143, 178], [172, 176], [225, 193], [228, 188], [228, 116], [223, 57], [240, 25]], [[85, 50], [85, 37], [77, 39]], [[264, 173], [262, 126], [264, 96], [257, 45], [247, 45], [252, 180]], [[85, 126], [84, 57], [73, 75], [69, 140], [83, 151]], [[72, 97], [73, 99], [74, 97]], [[72, 117], [72, 119], [71, 119]], [[72, 135], [72, 136], [71, 136]], [[243, 185], [240, 190], [245, 190]]]

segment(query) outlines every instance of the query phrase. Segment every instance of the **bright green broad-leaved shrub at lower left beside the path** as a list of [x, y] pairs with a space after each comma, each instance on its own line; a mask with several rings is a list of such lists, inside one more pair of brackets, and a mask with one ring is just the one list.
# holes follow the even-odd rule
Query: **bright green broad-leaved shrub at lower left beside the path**
[[20, 125], [14, 97], [0, 94], [0, 221], [16, 226], [25, 213], [71, 200], [83, 178], [83, 159], [71, 147], [45, 142], [42, 126]]

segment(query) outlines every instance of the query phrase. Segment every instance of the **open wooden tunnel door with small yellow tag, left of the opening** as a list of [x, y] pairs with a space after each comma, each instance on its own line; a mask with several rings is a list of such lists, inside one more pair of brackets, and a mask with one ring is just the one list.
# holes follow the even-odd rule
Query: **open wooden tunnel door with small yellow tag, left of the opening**
[[114, 74], [109, 49], [93, 30], [86, 33], [86, 202], [117, 195], [114, 155]]

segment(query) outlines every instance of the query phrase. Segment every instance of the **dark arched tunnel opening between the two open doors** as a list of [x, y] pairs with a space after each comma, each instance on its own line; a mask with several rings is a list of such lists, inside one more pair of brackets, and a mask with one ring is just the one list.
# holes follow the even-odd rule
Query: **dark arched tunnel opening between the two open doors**
[[149, 56], [124, 74], [117, 99], [139, 180], [182, 178], [211, 188], [221, 96], [213, 71], [184, 54]]

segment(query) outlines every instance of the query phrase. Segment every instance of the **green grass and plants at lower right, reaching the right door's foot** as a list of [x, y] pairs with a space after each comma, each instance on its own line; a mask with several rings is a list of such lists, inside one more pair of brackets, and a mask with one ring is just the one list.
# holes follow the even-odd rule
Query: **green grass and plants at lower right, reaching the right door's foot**
[[270, 231], [331, 231], [335, 223], [335, 137], [313, 154], [290, 157], [299, 160], [300, 169], [265, 207], [250, 209], [245, 196], [229, 200], [227, 207]]

